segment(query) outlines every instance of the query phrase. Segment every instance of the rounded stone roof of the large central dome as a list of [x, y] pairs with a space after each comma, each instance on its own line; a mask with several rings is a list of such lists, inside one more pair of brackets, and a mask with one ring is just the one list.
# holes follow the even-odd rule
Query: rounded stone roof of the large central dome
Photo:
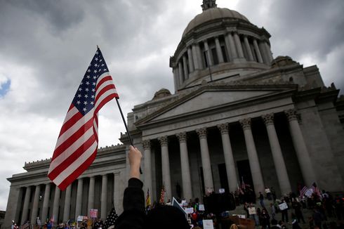
[[195, 27], [203, 24], [204, 22], [224, 18], [234, 18], [249, 22], [249, 20], [244, 15], [238, 13], [237, 11], [232, 11], [228, 8], [209, 8], [206, 11], [199, 13], [199, 15], [196, 15], [196, 17], [194, 17], [194, 19], [189, 22], [183, 32], [183, 37], [185, 37], [188, 32], [192, 31]]

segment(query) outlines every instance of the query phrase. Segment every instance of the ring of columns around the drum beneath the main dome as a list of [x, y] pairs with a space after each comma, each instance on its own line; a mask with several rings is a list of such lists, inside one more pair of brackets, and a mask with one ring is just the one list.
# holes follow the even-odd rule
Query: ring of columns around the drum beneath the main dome
[[[272, 61], [272, 53], [270, 51], [270, 46], [267, 41], [257, 41], [257, 39], [252, 38], [252, 45], [249, 43], [249, 38], [247, 35], [242, 35], [244, 40], [244, 46], [240, 40], [239, 34], [237, 32], [228, 33], [224, 35], [225, 46], [228, 52], [228, 59], [230, 61], [234, 59], [245, 59], [248, 61], [256, 60], [258, 63], [265, 63], [270, 65]], [[215, 37], [215, 47], [216, 55], [219, 63], [224, 63], [225, 58], [220, 46], [219, 37]], [[209, 48], [207, 40], [202, 41], [204, 46], [204, 51], [208, 55], [208, 65], [214, 65], [213, 63], [213, 53]], [[246, 53], [246, 57], [244, 55]], [[203, 64], [203, 58], [201, 54], [201, 48], [199, 43], [192, 44], [187, 47], [187, 51], [177, 60], [176, 67], [173, 68], [174, 78], [176, 79], [175, 84], [180, 86], [183, 81], [189, 78], [189, 74], [194, 72], [194, 70], [201, 70], [205, 66]]]

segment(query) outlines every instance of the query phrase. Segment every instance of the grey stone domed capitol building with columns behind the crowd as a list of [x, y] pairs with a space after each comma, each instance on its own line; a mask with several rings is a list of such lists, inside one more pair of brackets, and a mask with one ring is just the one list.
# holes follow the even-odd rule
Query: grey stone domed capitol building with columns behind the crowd
[[[170, 57], [174, 91], [160, 89], [127, 115], [143, 152], [145, 195], [166, 200], [251, 185], [277, 195], [298, 185], [343, 191], [344, 98], [324, 85], [316, 65], [272, 55], [270, 37], [246, 16], [204, 0]], [[172, 53], [171, 53], [172, 54]], [[168, 57], [166, 57], [168, 58]], [[166, 66], [168, 67], [168, 66]], [[158, 90], [158, 89], [157, 89]], [[13, 174], [4, 221], [76, 220], [112, 203], [121, 213], [128, 179], [129, 139], [100, 148], [93, 164], [60, 191], [47, 177], [50, 159], [25, 163]]]

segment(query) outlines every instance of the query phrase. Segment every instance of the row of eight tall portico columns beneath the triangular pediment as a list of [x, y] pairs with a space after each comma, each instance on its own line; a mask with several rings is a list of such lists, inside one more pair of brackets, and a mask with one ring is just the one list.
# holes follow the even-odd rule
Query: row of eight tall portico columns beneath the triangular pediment
[[[315, 175], [310, 162], [310, 156], [307, 152], [305, 141], [303, 139], [300, 126], [296, 117], [296, 110], [286, 110], [286, 117], [289, 121], [289, 129], [293, 140], [293, 145], [296, 150], [298, 162], [303, 174], [306, 185], [311, 185], [315, 182]], [[270, 143], [272, 152], [272, 158], [276, 169], [277, 179], [279, 188], [284, 193], [291, 192], [291, 184], [289, 181], [288, 172], [286, 170], [286, 164], [283, 159], [282, 150], [279, 145], [276, 129], [274, 128], [274, 114], [265, 114], [262, 116], [267, 129], [267, 136]], [[249, 157], [249, 166], [251, 169], [251, 175], [253, 178], [253, 186], [256, 192], [264, 190], [263, 175], [260, 169], [260, 163], [256, 150], [256, 145], [253, 140], [253, 134], [251, 131], [251, 119], [241, 119], [239, 123], [244, 131], [244, 139], [246, 143], [247, 155]], [[225, 166], [227, 171], [228, 184], [231, 192], [237, 190], [237, 172], [235, 169], [234, 157], [232, 152], [232, 146], [230, 143], [229, 125], [227, 123], [218, 125], [218, 129], [221, 133], [223, 143], [223, 153], [225, 158]], [[209, 156], [209, 147], [207, 141], [206, 128], [195, 130], [199, 136], [199, 144], [201, 149], [201, 164], [204, 174], [204, 190], [206, 192], [213, 191], [213, 176], [211, 174], [211, 160]], [[185, 199], [191, 199], [192, 196], [192, 184], [190, 176], [190, 164], [187, 152], [187, 134], [177, 133], [176, 134], [180, 144], [180, 163], [182, 173], [182, 184], [183, 184], [183, 197]], [[161, 166], [162, 166], [162, 180], [166, 189], [166, 198], [171, 198], [171, 174], [170, 166], [168, 161], [168, 140], [167, 136], [158, 138], [161, 145]], [[150, 140], [143, 141], [144, 156], [145, 156], [145, 183], [147, 187], [152, 190], [152, 164], [151, 164], [151, 150]]]

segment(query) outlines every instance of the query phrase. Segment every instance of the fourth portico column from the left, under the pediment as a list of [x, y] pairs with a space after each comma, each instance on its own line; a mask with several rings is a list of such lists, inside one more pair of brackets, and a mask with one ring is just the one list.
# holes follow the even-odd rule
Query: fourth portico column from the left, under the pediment
[[211, 172], [211, 162], [209, 156], [208, 140], [206, 138], [206, 128], [196, 130], [201, 146], [201, 160], [204, 176], [204, 190], [212, 192], [214, 190], [213, 176]]

